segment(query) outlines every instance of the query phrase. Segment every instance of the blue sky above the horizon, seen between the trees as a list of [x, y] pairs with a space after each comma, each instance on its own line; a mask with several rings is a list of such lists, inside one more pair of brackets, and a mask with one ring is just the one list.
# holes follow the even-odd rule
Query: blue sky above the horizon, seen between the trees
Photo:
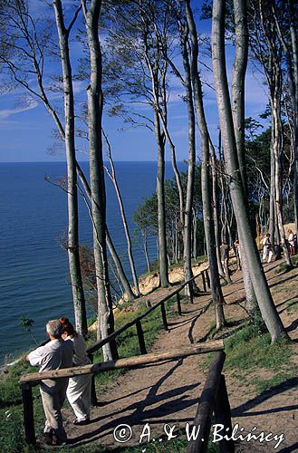
[[[73, 5], [69, 0], [62, 2], [66, 8], [66, 14]], [[43, 0], [32, 0], [31, 10], [33, 14], [40, 12]], [[49, 10], [52, 14], [52, 10]], [[210, 21], [197, 23], [197, 30], [200, 33], [210, 34]], [[72, 64], [75, 68], [78, 57], [82, 55], [82, 46], [72, 43]], [[233, 47], [226, 45], [227, 74], [230, 80], [233, 64]], [[211, 62], [205, 62], [211, 65]], [[207, 71], [204, 66], [200, 67], [203, 81], [213, 85], [213, 73]], [[46, 71], [60, 73], [60, 63], [51, 59]], [[1, 77], [1, 74], [0, 74]], [[45, 77], [47, 83], [47, 79]], [[31, 86], [36, 86], [34, 79], [29, 78]], [[87, 82], [76, 81], [74, 92], [77, 99], [85, 99]], [[216, 108], [216, 95], [214, 90], [204, 85], [204, 104], [207, 116], [207, 123], [212, 140], [216, 143], [218, 135], [218, 118]], [[171, 131], [172, 140], [177, 150], [177, 159], [187, 159], [187, 111], [185, 102], [181, 101], [183, 89], [178, 80], [171, 75], [169, 83], [168, 102], [168, 126]], [[32, 99], [29, 103], [24, 101], [24, 90], [20, 87], [13, 87], [10, 90], [3, 90], [0, 94], [0, 162], [35, 162], [35, 161], [62, 161], [65, 160], [62, 149], [50, 149], [53, 145], [53, 119], [45, 110], [43, 102]], [[62, 94], [57, 92], [49, 93], [50, 100], [62, 111]], [[252, 64], [249, 64], [246, 73], [245, 89], [245, 116], [259, 120], [258, 116], [264, 111], [268, 102], [268, 96], [264, 87], [263, 77], [260, 72], [255, 71]], [[142, 114], [151, 115], [149, 106], [142, 106]], [[112, 155], [115, 161], [131, 160], [155, 160], [157, 151], [155, 139], [147, 128], [133, 128], [130, 124], [123, 124], [123, 121], [109, 117], [107, 111], [103, 112], [103, 127], [111, 141]], [[198, 132], [197, 132], [198, 134]], [[197, 155], [199, 156], [199, 136], [197, 135]], [[88, 160], [88, 144], [84, 140], [77, 140], [77, 156], [81, 161]], [[166, 159], [170, 159], [169, 150]]]

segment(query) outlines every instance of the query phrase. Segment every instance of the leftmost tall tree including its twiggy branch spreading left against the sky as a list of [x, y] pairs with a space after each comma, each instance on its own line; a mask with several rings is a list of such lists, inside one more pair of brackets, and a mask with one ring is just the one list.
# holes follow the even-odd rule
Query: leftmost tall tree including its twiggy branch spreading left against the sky
[[[52, 102], [49, 100], [48, 92], [44, 87], [44, 64], [46, 53], [49, 52], [48, 43], [52, 43], [52, 24], [48, 21], [45, 24], [44, 22], [39, 23], [37, 30], [33, 16], [29, 14], [24, 2], [20, 0], [7, 2], [6, 8], [3, 11], [6, 30], [5, 35], [1, 38], [1, 42], [7, 49], [10, 49], [10, 52], [2, 53], [0, 61], [3, 64], [4, 71], [14, 84], [21, 86], [28, 93], [28, 96], [30, 96], [29, 101], [36, 99], [43, 102], [47, 111], [52, 115], [56, 128], [65, 145], [68, 203], [67, 252], [72, 282], [74, 317], [78, 332], [86, 333], [87, 320], [79, 255], [72, 67], [69, 59], [68, 44], [72, 26], [77, 19], [80, 7], [75, 10], [68, 27], [64, 24], [61, 2], [53, 2], [53, 7], [56, 11], [56, 24], [61, 51], [64, 118], [60, 118]], [[28, 81], [28, 74], [34, 75], [37, 88]], [[64, 125], [62, 120], [64, 120]]]

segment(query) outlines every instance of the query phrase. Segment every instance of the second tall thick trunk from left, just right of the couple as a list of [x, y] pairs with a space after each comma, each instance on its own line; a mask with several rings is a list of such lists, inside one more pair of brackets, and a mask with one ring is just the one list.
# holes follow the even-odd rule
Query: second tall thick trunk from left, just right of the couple
[[[93, 246], [98, 292], [99, 327], [98, 337], [106, 338], [114, 331], [111, 287], [109, 282], [106, 252], [106, 194], [104, 184], [101, 118], [103, 95], [101, 90], [101, 45], [99, 41], [99, 19], [101, 1], [92, 0], [87, 12], [83, 2], [88, 46], [91, 61], [90, 86], [87, 89], [89, 116], [89, 154], [91, 181], [91, 209], [93, 224]], [[117, 358], [116, 343], [111, 342], [102, 348], [105, 361]]]

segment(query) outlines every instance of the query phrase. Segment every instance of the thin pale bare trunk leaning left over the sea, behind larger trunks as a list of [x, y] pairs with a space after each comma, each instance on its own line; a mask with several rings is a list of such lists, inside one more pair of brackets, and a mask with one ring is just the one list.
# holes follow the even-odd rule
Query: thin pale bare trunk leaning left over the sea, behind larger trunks
[[122, 200], [122, 197], [121, 197], [121, 194], [120, 194], [120, 188], [119, 188], [118, 181], [117, 181], [117, 178], [116, 178], [116, 171], [115, 171], [114, 161], [113, 161], [113, 159], [111, 157], [111, 144], [110, 144], [110, 142], [108, 140], [108, 137], [106, 136], [106, 134], [104, 133], [103, 130], [102, 130], [102, 134], [103, 134], [103, 136], [104, 136], [104, 138], [106, 140], [106, 143], [107, 143], [108, 158], [110, 160], [110, 165], [111, 165], [111, 173], [110, 173], [109, 169], [106, 168], [106, 170], [107, 170], [107, 173], [108, 173], [109, 177], [111, 178], [111, 181], [113, 183], [113, 186], [115, 188], [116, 195], [117, 195], [117, 198], [118, 198], [122, 224], [123, 224], [124, 232], [125, 232], [125, 236], [126, 236], [128, 255], [129, 255], [129, 260], [130, 260], [131, 275], [132, 275], [132, 279], [133, 279], [133, 284], [135, 286], [136, 294], [139, 296], [140, 295], [139, 294], [139, 280], [138, 280], [136, 266], [135, 266], [133, 255], [132, 255], [132, 246], [131, 246], [131, 239], [130, 239], [130, 228], [129, 228], [129, 225], [128, 225], [128, 222], [127, 222], [127, 218], [126, 218], [126, 215], [125, 215], [125, 209], [124, 209], [124, 205], [123, 205], [123, 200]]

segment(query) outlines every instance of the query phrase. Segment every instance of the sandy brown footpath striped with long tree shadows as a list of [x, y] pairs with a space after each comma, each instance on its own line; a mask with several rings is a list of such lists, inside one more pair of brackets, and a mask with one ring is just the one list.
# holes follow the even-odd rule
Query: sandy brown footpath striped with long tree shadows
[[[296, 312], [287, 313], [284, 306], [286, 301], [297, 300], [298, 269], [284, 275], [284, 284], [281, 285], [281, 276], [274, 274], [276, 266], [277, 263], [273, 263], [265, 268], [267, 278], [272, 285], [275, 303], [282, 312], [284, 324], [289, 327], [293, 339], [297, 339], [298, 334], [294, 329], [297, 325]], [[245, 311], [240, 306], [244, 296], [241, 273], [234, 274], [233, 281], [233, 284], [224, 287], [227, 303], [225, 311], [226, 318], [236, 322], [245, 316]], [[281, 287], [283, 291], [280, 291]], [[169, 321], [169, 333], [159, 334], [152, 352], [176, 349], [206, 338], [214, 318], [212, 307], [202, 313], [209, 301], [210, 294], [207, 294], [197, 297], [195, 304], [184, 304], [183, 315]], [[298, 348], [298, 344], [295, 344], [295, 347]], [[64, 410], [70, 441], [73, 445], [98, 442], [107, 447], [118, 448], [136, 445], [139, 439], [165, 440], [165, 424], [171, 428], [180, 427], [182, 436], [186, 436], [186, 423], [194, 419], [199, 395], [206, 379], [207, 370], [202, 371], [199, 367], [202, 360], [203, 356], [199, 355], [128, 371], [113, 382], [104, 394], [99, 395], [100, 405], [93, 408], [92, 423], [86, 427], [74, 428], [71, 410]], [[233, 425], [238, 423], [245, 427], [245, 432], [256, 426], [257, 432], [263, 430], [267, 434], [272, 431], [276, 435], [284, 432], [285, 436], [280, 447], [276, 449], [276, 441], [267, 442], [265, 445], [243, 441], [236, 444], [237, 451], [298, 451], [297, 383], [298, 378], [295, 378], [271, 393], [255, 397], [253, 385], [245, 387], [226, 373]], [[113, 432], [123, 424], [130, 425], [131, 439], [120, 443], [114, 439]], [[147, 428], [144, 428], [145, 426]], [[124, 434], [124, 431], [116, 430], [118, 436]], [[170, 448], [167, 451], [170, 451]]]

